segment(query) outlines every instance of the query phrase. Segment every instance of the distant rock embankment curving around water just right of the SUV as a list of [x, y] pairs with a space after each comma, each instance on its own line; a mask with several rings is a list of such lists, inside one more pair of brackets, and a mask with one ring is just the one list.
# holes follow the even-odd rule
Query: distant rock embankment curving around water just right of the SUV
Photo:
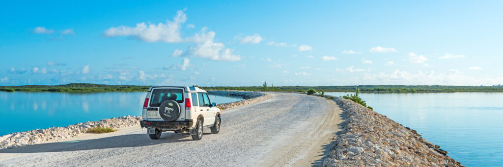
[[229, 109], [232, 107], [237, 107], [240, 105], [246, 105], [246, 104], [251, 104], [255, 103], [258, 101], [266, 100], [271, 98], [272, 96], [267, 93], [263, 92], [250, 92], [250, 91], [223, 91], [223, 90], [216, 90], [216, 91], [209, 91], [209, 94], [214, 94], [214, 95], [221, 95], [221, 96], [239, 96], [242, 97], [244, 100], [240, 101], [234, 101], [230, 103], [222, 103], [218, 104], [217, 107], [220, 109]]

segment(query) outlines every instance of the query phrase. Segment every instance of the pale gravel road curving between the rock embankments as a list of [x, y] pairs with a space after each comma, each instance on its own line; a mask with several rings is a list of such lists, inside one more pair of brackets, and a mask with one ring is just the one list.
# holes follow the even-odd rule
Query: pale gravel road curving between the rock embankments
[[334, 133], [338, 105], [321, 97], [272, 98], [222, 111], [220, 133], [203, 138], [162, 133], [151, 140], [139, 125], [82, 134], [64, 142], [0, 150], [0, 166], [310, 166], [320, 165]]

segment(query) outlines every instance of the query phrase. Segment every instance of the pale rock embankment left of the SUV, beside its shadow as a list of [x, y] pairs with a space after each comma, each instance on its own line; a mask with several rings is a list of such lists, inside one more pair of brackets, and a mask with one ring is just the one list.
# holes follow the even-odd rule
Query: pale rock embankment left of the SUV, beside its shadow
[[87, 129], [102, 126], [113, 129], [133, 126], [139, 124], [141, 116], [122, 116], [118, 118], [103, 119], [100, 121], [88, 121], [77, 123], [65, 127], [51, 127], [47, 129], [35, 129], [24, 132], [15, 132], [0, 136], [0, 149], [16, 148], [22, 145], [39, 144], [45, 142], [54, 142], [76, 136], [87, 132]]

